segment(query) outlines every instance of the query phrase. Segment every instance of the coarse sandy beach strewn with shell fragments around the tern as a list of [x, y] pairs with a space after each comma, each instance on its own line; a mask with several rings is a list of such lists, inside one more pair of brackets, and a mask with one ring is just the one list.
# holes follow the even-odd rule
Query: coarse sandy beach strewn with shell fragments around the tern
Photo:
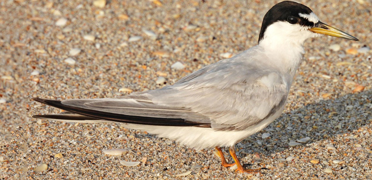
[[[297, 1], [360, 41], [306, 40], [282, 116], [235, 146], [247, 167], [268, 168], [262, 174], [236, 173], [221, 166], [215, 149], [194, 150], [119, 123], [32, 118], [60, 112], [32, 97], [126, 95], [229, 58], [257, 44], [262, 19], [277, 2], [0, 2], [0, 178], [372, 178], [370, 0]], [[117, 148], [121, 155], [103, 151]]]

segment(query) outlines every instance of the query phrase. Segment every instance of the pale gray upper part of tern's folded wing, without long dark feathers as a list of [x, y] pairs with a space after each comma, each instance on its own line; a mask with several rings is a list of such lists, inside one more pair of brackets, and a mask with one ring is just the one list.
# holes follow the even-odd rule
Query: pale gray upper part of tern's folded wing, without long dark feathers
[[164, 106], [186, 107], [209, 117], [210, 126], [220, 130], [242, 130], [257, 124], [280, 110], [288, 86], [276, 71], [246, 66], [204, 73], [190, 81], [176, 83], [164, 89], [141, 93], [152, 102]]

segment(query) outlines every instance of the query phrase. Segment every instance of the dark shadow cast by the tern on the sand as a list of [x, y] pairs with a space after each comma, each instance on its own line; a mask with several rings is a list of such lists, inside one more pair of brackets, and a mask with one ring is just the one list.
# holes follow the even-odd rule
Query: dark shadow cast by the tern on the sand
[[[264, 130], [238, 143], [236, 146], [243, 152], [239, 156], [252, 153], [270, 156], [290, 148], [289, 142], [296, 142], [304, 137], [310, 137], [310, 140], [301, 144], [302, 146], [332, 139], [339, 134], [353, 136], [354, 130], [371, 123], [371, 101], [372, 90], [367, 90], [319, 100], [283, 113]], [[270, 133], [270, 137], [263, 139], [263, 133]]]

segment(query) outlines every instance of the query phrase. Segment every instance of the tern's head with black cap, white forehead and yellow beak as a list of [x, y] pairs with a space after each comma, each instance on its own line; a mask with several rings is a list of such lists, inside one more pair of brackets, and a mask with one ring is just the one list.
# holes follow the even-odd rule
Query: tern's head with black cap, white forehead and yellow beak
[[287, 41], [302, 44], [309, 37], [322, 34], [359, 40], [354, 36], [327, 25], [307, 6], [283, 1], [274, 5], [264, 16], [259, 43], [265, 41]]

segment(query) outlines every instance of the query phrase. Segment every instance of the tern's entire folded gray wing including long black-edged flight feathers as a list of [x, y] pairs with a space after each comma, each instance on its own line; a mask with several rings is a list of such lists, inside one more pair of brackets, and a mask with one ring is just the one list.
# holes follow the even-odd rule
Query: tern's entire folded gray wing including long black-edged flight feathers
[[240, 130], [271, 116], [288, 94], [280, 73], [246, 57], [221, 60], [174, 85], [122, 98], [36, 100], [94, 119]]

